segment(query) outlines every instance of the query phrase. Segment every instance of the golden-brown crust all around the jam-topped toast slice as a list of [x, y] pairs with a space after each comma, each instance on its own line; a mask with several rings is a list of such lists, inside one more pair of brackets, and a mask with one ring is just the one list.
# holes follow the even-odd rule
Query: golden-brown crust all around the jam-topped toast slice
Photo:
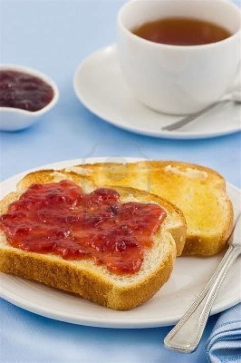
[[[59, 172], [41, 170], [26, 175], [18, 183], [18, 191], [8, 194], [0, 202], [0, 214], [5, 213], [9, 204], [18, 199], [30, 185], [53, 182], [56, 174]], [[96, 188], [91, 178], [74, 172], [65, 172], [64, 176], [71, 178], [84, 188], [89, 186]], [[179, 222], [169, 229], [166, 227], [168, 245], [165, 256], [147, 275], [127, 285], [118, 284], [101, 270], [93, 269], [84, 260], [81, 260], [81, 264], [75, 264], [56, 255], [27, 252], [9, 244], [0, 245], [0, 271], [42, 282], [47, 286], [78, 294], [85, 299], [117, 310], [133, 308], [152, 297], [170, 277], [176, 256], [176, 246], [183, 249], [186, 237], [185, 219], [182, 212], [165, 199], [133, 188], [113, 188], [119, 192], [121, 198], [132, 194], [142, 202], [152, 201], [162, 205], [168, 215], [175, 216]], [[162, 226], [165, 223], [166, 220]]]

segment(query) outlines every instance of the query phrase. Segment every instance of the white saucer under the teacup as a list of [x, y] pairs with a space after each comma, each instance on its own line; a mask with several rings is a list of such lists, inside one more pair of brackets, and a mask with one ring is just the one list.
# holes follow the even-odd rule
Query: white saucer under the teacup
[[145, 107], [126, 85], [119, 68], [115, 45], [85, 59], [74, 75], [74, 89], [85, 107], [105, 121], [138, 134], [167, 139], [199, 139], [240, 131], [241, 106], [227, 105], [190, 123], [182, 131], [162, 131], [177, 121]]

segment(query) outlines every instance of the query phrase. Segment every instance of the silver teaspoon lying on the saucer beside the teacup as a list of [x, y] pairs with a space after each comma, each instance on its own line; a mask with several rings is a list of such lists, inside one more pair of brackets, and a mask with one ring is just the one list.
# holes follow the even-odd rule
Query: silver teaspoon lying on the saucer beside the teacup
[[164, 131], [173, 131], [173, 130], [177, 130], [183, 126], [186, 126], [188, 123], [190, 123], [191, 121], [194, 121], [195, 119], [197, 119], [198, 117], [204, 115], [205, 113], [213, 110], [216, 107], [220, 107], [222, 105], [224, 105], [225, 103], [229, 103], [229, 102], [233, 102], [233, 103], [241, 103], [241, 92], [240, 91], [235, 91], [229, 95], [227, 95], [225, 98], [212, 103], [212, 105], [209, 105], [207, 107], [205, 107], [204, 109], [202, 109], [199, 112], [196, 112], [195, 114], [186, 116], [182, 119], [180, 119], [179, 121], [176, 121], [168, 126], [162, 127], [162, 129]]

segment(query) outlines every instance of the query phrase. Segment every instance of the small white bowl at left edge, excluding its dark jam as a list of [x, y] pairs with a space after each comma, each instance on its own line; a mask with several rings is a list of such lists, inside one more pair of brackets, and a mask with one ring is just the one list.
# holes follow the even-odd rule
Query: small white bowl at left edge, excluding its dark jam
[[12, 107], [0, 107], [0, 130], [17, 131], [35, 123], [42, 115], [52, 109], [58, 100], [59, 92], [56, 84], [45, 74], [28, 67], [13, 64], [3, 64], [0, 70], [14, 70], [39, 77], [53, 89], [53, 98], [39, 111], [27, 111]]

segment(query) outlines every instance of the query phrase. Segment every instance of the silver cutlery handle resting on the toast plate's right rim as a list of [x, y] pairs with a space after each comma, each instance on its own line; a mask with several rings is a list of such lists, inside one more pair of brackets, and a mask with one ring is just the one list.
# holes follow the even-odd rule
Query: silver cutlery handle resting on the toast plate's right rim
[[167, 348], [184, 353], [193, 352], [202, 337], [207, 318], [214, 300], [229, 268], [241, 253], [241, 216], [229, 239], [229, 248], [220, 262], [217, 270], [207, 282], [205, 288], [189, 307], [183, 318], [174, 326], [164, 339]]

